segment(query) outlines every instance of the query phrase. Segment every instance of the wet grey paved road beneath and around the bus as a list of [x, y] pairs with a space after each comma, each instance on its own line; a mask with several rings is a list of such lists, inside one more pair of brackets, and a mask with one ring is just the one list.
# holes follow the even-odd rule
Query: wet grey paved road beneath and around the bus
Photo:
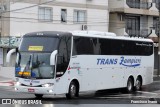
[[[3, 81], [10, 81], [7, 78], [1, 79]], [[36, 99], [32, 94], [14, 92], [13, 86], [0, 86], [0, 98], [39, 100], [43, 103], [43, 105], [0, 105], [0, 107], [116, 107], [117, 105], [118, 107], [137, 107], [139, 104], [141, 104], [141, 107], [159, 107], [160, 79], [156, 78], [152, 84], [144, 86], [142, 91], [132, 94], [125, 93], [124, 89], [104, 90], [81, 93], [79, 98], [73, 100], [67, 100], [65, 95], [58, 95], [56, 97], [45, 95], [42, 99]]]

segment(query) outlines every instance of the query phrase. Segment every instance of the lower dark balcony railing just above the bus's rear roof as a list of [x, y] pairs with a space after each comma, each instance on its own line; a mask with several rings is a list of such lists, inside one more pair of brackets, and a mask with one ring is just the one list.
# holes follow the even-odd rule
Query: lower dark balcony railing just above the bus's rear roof
[[148, 29], [130, 30], [130, 29], [127, 29], [126, 33], [128, 33], [128, 35], [130, 37], [144, 37], [144, 38], [147, 38], [152, 33], [152, 30], [148, 30]]

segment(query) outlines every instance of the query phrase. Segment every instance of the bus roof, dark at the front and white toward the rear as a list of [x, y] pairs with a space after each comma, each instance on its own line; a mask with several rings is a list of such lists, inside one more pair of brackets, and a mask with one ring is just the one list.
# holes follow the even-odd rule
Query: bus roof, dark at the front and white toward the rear
[[81, 36], [81, 37], [95, 37], [95, 38], [106, 38], [106, 39], [118, 39], [118, 40], [130, 40], [130, 41], [146, 41], [153, 42], [151, 39], [138, 38], [138, 37], [125, 37], [116, 36], [115, 33], [111, 32], [100, 32], [100, 31], [40, 31], [27, 33], [23, 37], [62, 37], [62, 36]]

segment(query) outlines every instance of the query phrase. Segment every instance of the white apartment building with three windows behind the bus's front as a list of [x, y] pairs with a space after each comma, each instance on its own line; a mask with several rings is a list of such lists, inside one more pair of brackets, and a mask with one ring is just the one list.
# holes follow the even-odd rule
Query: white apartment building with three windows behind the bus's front
[[18, 37], [25, 33], [108, 31], [109, 25], [108, 0], [1, 0], [0, 16], [3, 66], [7, 50], [18, 46]]

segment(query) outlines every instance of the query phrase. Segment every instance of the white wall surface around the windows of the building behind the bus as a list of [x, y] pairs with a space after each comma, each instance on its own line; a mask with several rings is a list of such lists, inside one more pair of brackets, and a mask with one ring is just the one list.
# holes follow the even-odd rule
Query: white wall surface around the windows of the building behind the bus
[[[66, 0], [59, 0], [65, 1]], [[67, 2], [84, 3], [85, 0], [68, 0]], [[82, 2], [83, 1], [83, 2]], [[82, 25], [88, 25], [88, 30], [108, 31], [108, 0], [93, 0], [90, 4], [105, 4], [106, 9], [91, 9], [78, 7], [62, 7], [62, 6], [47, 6], [53, 8], [53, 22], [39, 22], [38, 21], [38, 7], [23, 9], [10, 13], [10, 35], [21, 36], [28, 32], [34, 31], [72, 31], [81, 30]], [[14, 3], [11, 4], [10, 10], [28, 7], [34, 4], [29, 3]], [[46, 5], [43, 5], [46, 6]], [[61, 23], [61, 9], [67, 9], [67, 23]], [[87, 10], [87, 23], [75, 24], [73, 23], [74, 9]]]

